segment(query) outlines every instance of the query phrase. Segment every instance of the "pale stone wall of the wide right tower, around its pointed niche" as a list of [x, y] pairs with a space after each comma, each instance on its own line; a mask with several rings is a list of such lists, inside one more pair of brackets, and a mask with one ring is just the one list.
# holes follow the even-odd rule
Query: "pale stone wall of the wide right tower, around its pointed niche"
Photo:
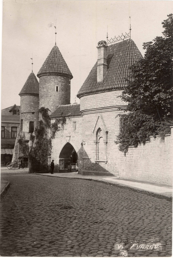
[[[117, 98], [121, 94], [122, 90], [118, 90], [83, 96], [80, 99], [80, 111], [83, 115], [82, 138], [84, 141], [82, 174], [119, 175], [118, 163], [122, 153], [118, 150], [114, 140], [116, 140], [120, 128], [120, 117], [117, 117], [117, 115], [123, 114], [123, 110], [118, 110], [118, 108], [125, 108], [127, 105], [121, 98]], [[107, 143], [104, 142], [107, 155], [105, 154], [104, 160], [97, 161], [98, 143], [94, 142], [93, 128], [95, 126], [95, 130], [98, 130], [101, 127], [100, 119], [96, 124], [100, 115], [108, 131]]]

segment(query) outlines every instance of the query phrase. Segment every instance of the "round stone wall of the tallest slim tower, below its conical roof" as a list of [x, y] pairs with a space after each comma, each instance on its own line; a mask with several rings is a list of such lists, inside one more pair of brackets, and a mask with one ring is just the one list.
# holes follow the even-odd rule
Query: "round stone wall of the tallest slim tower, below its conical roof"
[[[59, 86], [58, 92], [56, 86]], [[59, 75], [41, 76], [39, 92], [39, 108], [49, 108], [53, 112], [59, 105], [70, 104], [70, 79]]]

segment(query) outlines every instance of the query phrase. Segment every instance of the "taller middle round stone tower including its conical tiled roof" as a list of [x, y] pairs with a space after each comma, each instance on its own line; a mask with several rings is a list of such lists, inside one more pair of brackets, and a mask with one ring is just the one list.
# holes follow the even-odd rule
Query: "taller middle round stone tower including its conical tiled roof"
[[70, 104], [70, 80], [73, 76], [56, 45], [37, 76], [40, 79], [39, 108], [49, 108], [53, 112], [59, 105]]

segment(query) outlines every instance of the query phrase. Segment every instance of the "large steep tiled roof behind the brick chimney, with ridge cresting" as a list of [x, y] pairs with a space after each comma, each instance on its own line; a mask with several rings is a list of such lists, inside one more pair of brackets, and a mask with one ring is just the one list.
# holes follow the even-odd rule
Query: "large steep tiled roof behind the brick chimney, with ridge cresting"
[[126, 78], [130, 74], [129, 67], [142, 57], [132, 39], [109, 45], [107, 48], [108, 70], [102, 82], [97, 82], [97, 62], [80, 88], [77, 97], [101, 91], [124, 88]]

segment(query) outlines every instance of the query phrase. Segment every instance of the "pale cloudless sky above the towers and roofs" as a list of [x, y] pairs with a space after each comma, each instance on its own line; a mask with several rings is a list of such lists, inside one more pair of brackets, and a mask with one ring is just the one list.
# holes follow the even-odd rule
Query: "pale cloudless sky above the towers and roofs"
[[173, 12], [173, 1], [4, 0], [2, 5], [2, 109], [20, 105], [31, 58], [37, 75], [55, 45], [54, 26], [56, 45], [73, 75], [74, 103], [97, 61], [97, 43], [107, 40], [107, 28], [108, 39], [128, 33], [130, 16], [131, 38], [144, 56], [143, 42], [162, 36], [161, 22]]

